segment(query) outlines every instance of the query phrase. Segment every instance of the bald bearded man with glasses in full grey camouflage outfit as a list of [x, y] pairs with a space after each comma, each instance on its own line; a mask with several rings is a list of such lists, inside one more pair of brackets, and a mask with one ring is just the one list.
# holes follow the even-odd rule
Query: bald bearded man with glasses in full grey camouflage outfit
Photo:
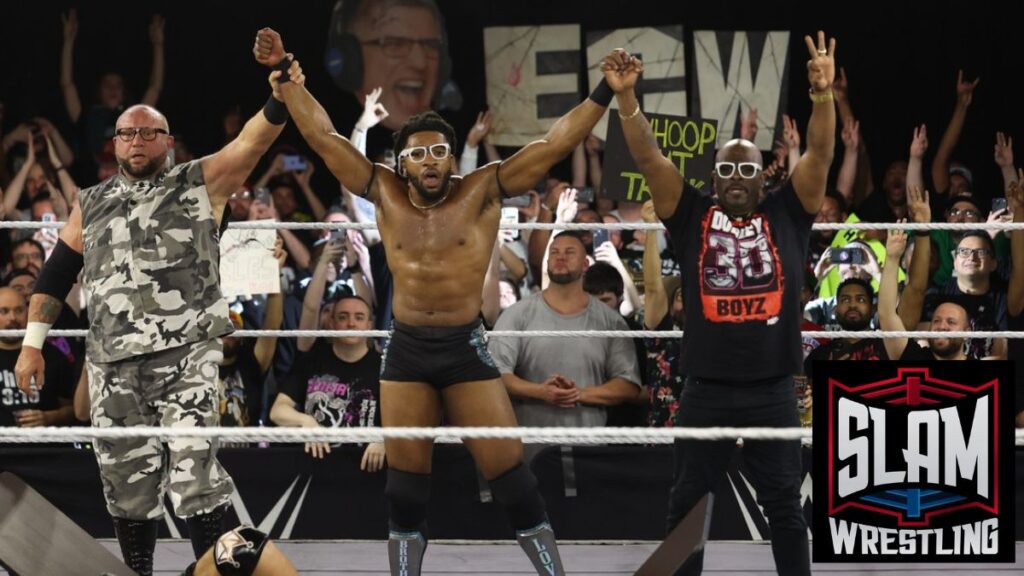
[[[47, 282], [81, 269], [89, 294], [92, 425], [217, 425], [220, 338], [232, 330], [220, 292], [222, 217], [288, 119], [273, 79], [280, 74], [271, 74], [273, 96], [238, 138], [178, 166], [168, 167], [174, 138], [163, 114], [135, 106], [121, 115], [114, 136], [119, 173], [81, 192], [41, 273], [44, 286], [32, 296], [15, 369], [23, 389], [33, 376], [44, 384], [34, 342], [56, 318], [65, 287]], [[165, 489], [186, 519], [197, 558], [224, 531], [234, 486], [215, 441], [180, 438], [165, 447], [156, 438], [99, 440], [94, 447], [125, 563], [139, 574], [153, 571]]]

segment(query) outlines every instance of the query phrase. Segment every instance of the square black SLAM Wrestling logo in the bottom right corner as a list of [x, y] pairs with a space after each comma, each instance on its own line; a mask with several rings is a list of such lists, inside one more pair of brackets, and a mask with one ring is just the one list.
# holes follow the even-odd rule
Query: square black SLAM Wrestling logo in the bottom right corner
[[1009, 363], [814, 374], [815, 562], [1014, 562]]

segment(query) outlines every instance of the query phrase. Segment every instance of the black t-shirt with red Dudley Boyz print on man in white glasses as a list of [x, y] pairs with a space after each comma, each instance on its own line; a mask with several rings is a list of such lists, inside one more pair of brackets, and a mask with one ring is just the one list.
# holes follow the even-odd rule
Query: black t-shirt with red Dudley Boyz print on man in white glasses
[[745, 220], [686, 186], [665, 225], [683, 275], [682, 367], [717, 380], [761, 380], [803, 369], [800, 288], [814, 214], [791, 182]]

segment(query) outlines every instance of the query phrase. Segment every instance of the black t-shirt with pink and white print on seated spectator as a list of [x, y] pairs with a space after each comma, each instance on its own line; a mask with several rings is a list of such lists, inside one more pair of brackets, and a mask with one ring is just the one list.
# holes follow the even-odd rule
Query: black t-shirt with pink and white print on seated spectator
[[281, 392], [322, 426], [379, 426], [380, 370], [377, 351], [349, 363], [334, 354], [330, 339], [319, 338], [296, 359]]

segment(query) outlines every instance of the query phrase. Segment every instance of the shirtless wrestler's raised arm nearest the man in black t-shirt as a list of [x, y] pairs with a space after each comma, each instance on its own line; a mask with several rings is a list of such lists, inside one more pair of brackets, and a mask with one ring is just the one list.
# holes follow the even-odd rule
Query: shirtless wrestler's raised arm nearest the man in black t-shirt
[[[602, 61], [602, 68], [610, 68], [612, 59], [623, 66], [629, 54], [625, 50], [612, 51]], [[568, 156], [587, 137], [611, 101], [609, 84], [602, 81], [584, 101], [577, 105], [559, 118], [544, 138], [532, 141], [498, 164], [498, 178], [494, 192], [500, 186], [509, 195], [519, 195], [534, 188], [552, 166]], [[488, 166], [490, 166], [488, 164]]]

